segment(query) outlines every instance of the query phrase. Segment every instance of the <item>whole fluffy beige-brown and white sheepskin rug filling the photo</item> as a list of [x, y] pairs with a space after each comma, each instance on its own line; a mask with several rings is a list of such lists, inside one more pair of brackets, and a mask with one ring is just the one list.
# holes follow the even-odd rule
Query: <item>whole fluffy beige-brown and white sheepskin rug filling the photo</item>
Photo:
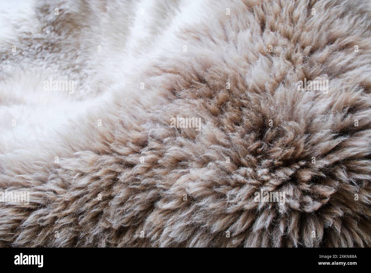
[[371, 245], [369, 1], [0, 9], [1, 247]]

